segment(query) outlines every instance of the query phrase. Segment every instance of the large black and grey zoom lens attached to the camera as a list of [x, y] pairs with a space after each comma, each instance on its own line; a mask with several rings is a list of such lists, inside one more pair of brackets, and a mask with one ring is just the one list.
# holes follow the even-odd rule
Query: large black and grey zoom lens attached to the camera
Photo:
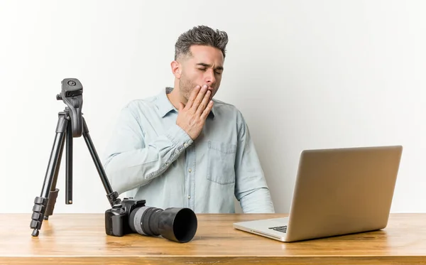
[[133, 232], [189, 242], [197, 232], [197, 216], [189, 208], [138, 207], [130, 213], [129, 225]]

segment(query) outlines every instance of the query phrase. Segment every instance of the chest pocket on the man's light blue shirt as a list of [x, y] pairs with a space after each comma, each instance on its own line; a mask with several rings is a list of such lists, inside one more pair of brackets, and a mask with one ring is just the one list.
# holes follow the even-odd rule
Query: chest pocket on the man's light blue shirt
[[236, 145], [207, 141], [207, 179], [219, 184], [235, 183]]

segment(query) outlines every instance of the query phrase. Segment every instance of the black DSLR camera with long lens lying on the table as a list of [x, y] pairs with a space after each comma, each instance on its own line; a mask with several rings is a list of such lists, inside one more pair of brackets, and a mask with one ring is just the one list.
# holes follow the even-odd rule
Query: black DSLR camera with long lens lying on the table
[[147, 206], [146, 200], [124, 198], [105, 211], [105, 232], [115, 237], [138, 233], [185, 243], [194, 237], [196, 231], [197, 217], [189, 208], [162, 210]]

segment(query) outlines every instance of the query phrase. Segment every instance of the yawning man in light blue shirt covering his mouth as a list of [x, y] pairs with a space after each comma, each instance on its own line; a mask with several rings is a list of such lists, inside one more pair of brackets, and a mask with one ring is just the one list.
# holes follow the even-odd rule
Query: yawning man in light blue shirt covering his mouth
[[236, 107], [213, 99], [228, 36], [198, 26], [175, 43], [173, 88], [122, 109], [104, 169], [119, 194], [194, 212], [274, 212], [249, 128]]

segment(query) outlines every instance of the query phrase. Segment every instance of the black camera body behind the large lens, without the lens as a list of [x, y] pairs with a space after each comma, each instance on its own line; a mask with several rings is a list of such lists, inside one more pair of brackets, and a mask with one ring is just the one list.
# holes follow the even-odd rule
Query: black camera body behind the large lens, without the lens
[[129, 218], [133, 210], [144, 207], [146, 200], [133, 200], [124, 198], [121, 204], [114, 205], [105, 211], [105, 232], [110, 236], [122, 237], [125, 234], [133, 233]]

